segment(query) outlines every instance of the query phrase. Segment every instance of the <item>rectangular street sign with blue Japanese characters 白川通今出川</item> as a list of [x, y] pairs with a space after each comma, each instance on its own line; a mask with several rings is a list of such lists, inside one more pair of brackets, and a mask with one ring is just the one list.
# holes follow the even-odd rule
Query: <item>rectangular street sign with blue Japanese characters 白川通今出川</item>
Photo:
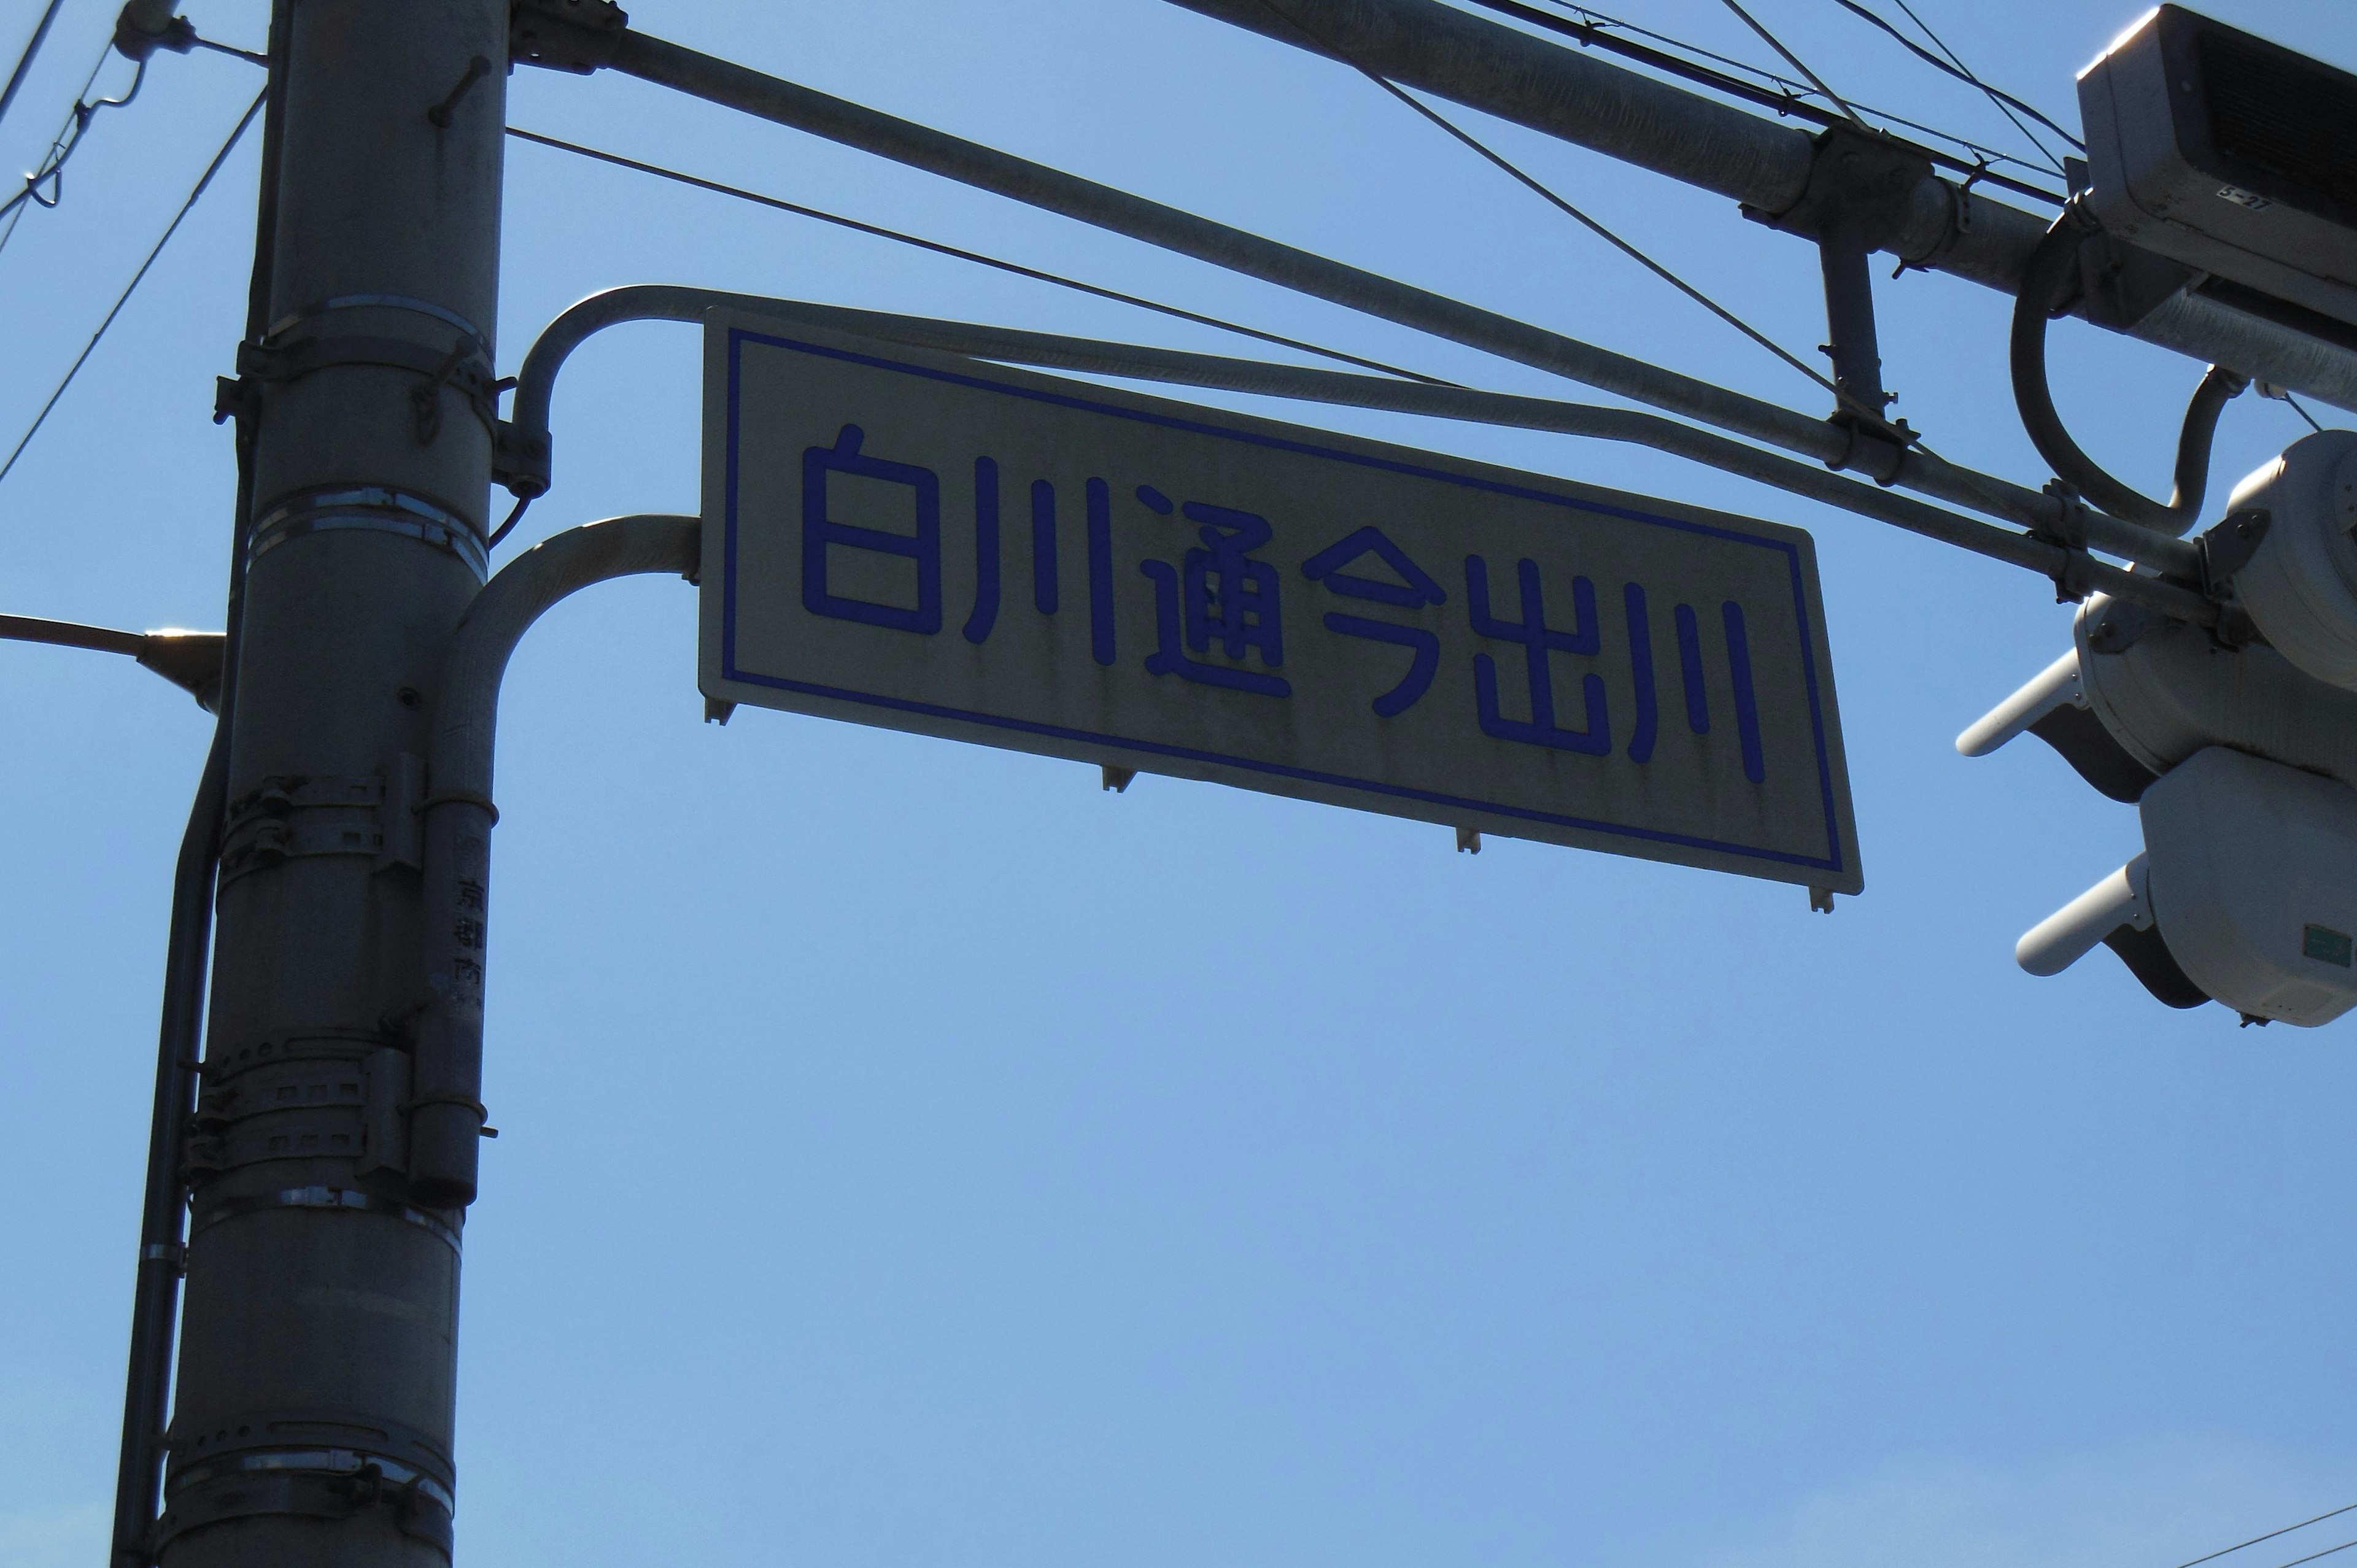
[[707, 698], [1862, 887], [1798, 528], [705, 321]]

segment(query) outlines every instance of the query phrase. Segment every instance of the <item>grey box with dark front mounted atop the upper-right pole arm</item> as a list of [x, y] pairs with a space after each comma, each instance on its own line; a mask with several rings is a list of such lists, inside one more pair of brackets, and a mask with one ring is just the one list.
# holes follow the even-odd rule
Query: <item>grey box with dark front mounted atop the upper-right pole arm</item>
[[2079, 73], [2079, 118], [2110, 233], [2357, 325], [2357, 75], [2164, 5]]

